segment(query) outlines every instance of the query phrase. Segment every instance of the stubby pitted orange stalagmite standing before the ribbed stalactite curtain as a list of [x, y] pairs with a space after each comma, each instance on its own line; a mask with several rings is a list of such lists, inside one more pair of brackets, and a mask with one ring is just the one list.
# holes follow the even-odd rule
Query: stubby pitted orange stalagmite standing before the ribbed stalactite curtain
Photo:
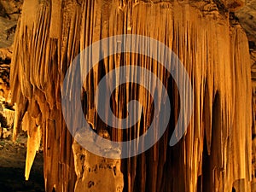
[[75, 192], [123, 191], [124, 177], [120, 170], [121, 160], [111, 160], [91, 154], [81, 148], [76, 141], [73, 143], [73, 154], [77, 175]]

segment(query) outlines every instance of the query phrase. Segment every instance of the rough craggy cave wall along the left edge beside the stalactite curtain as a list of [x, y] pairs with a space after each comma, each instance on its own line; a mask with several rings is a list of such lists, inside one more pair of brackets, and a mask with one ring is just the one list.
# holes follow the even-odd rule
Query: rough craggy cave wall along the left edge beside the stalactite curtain
[[9, 106], [9, 64], [12, 57], [11, 45], [14, 43], [21, 4], [22, 1], [19, 0], [0, 1], [0, 126], [2, 130], [0, 135], [2, 137], [9, 136], [11, 131], [6, 131], [6, 128], [11, 128], [15, 119], [14, 108]]

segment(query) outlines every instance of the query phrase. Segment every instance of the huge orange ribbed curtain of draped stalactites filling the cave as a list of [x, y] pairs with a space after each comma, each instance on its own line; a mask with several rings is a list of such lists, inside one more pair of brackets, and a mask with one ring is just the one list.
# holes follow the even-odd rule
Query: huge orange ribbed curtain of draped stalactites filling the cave
[[[10, 83], [17, 93], [12, 95], [14, 132], [22, 125], [28, 133], [26, 178], [43, 136], [46, 191], [251, 191], [250, 56], [246, 34], [229, 14], [241, 4], [25, 0]], [[185, 136], [171, 148], [168, 142], [181, 110], [171, 75], [143, 55], [111, 55], [100, 61], [84, 80], [82, 99], [85, 117], [98, 133], [108, 131], [113, 141], [131, 140], [148, 129], [154, 113], [143, 87], [120, 86], [113, 92], [113, 113], [124, 114], [120, 106], [136, 99], [143, 103], [143, 120], [127, 131], [102, 124], [93, 104], [96, 84], [115, 67], [137, 63], [151, 70], [168, 89], [172, 106], [167, 130], [153, 148], [125, 160], [108, 160], [79, 147], [67, 130], [61, 85], [81, 50], [118, 34], [144, 35], [170, 47], [189, 74], [195, 105]], [[183, 79], [179, 74], [178, 80]], [[99, 165], [103, 168], [97, 173], [89, 172]]]

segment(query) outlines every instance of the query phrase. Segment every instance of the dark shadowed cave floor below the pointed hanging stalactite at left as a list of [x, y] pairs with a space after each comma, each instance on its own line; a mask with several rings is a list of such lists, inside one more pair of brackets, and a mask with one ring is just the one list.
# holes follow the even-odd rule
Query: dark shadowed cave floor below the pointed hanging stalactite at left
[[16, 143], [10, 138], [0, 139], [0, 192], [43, 192], [44, 158], [38, 152], [30, 178], [25, 181], [26, 137], [20, 136]]

